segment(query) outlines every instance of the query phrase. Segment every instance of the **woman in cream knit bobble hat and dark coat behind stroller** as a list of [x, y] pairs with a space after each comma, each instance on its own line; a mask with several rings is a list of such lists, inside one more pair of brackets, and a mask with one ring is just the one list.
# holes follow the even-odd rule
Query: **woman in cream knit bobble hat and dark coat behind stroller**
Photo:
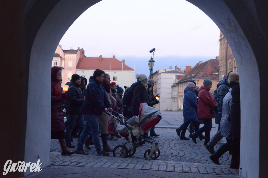
[[145, 74], [137, 74], [138, 82], [133, 83], [133, 97], [132, 97], [132, 115], [139, 115], [140, 104], [146, 102], [146, 90], [148, 78]]

